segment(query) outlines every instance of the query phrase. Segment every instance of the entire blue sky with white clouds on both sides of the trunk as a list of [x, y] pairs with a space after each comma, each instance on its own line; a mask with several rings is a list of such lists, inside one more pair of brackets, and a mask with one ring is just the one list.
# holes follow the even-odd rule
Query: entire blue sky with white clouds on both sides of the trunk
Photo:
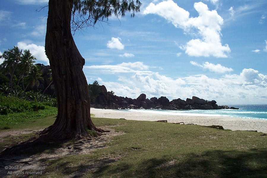
[[[219, 104], [267, 104], [267, 1], [141, 1], [134, 18], [77, 32], [88, 83], [118, 96]], [[0, 2], [0, 54], [13, 46], [45, 55], [47, 0]], [[40, 10], [40, 12], [36, 12]], [[1, 59], [0, 59], [1, 60]], [[1, 63], [2, 61], [0, 61]]]

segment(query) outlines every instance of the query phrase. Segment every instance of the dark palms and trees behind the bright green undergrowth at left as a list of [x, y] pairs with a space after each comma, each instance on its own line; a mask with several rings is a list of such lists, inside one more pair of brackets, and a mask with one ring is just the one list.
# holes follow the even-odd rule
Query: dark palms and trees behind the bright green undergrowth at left
[[4, 51], [0, 58], [4, 59], [0, 65], [0, 95], [38, 102], [52, 101], [55, 92], [47, 90], [48, 85], [53, 84], [52, 72], [50, 69], [43, 72], [44, 65], [34, 64], [36, 58], [29, 50], [22, 52], [14, 46]]

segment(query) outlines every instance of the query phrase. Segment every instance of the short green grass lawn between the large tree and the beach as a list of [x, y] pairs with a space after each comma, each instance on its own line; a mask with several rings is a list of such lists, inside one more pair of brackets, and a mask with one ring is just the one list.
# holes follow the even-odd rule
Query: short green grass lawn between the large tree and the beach
[[[47, 120], [43, 126], [51, 125], [54, 119], [42, 119]], [[77, 177], [267, 177], [267, 137], [263, 133], [149, 121], [92, 120], [99, 127], [124, 134], [90, 154], [43, 160], [46, 168], [38, 177], [77, 173]], [[27, 126], [34, 125], [32, 120], [26, 122]]]

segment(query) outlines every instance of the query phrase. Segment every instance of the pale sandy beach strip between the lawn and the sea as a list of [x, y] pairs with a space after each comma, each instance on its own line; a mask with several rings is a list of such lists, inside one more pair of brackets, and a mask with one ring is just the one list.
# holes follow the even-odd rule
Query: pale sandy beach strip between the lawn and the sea
[[110, 110], [110, 109], [95, 109], [91, 108], [91, 114], [95, 117], [103, 118], [124, 118], [126, 120], [168, 120], [169, 123], [184, 122], [185, 124], [197, 125], [222, 125], [224, 129], [236, 130], [253, 130], [267, 133], [267, 120], [261, 119], [246, 119], [236, 117], [218, 117], [218, 116], [191, 116], [191, 115], [167, 115], [148, 113], [135, 110], [129, 112], [125, 110]]

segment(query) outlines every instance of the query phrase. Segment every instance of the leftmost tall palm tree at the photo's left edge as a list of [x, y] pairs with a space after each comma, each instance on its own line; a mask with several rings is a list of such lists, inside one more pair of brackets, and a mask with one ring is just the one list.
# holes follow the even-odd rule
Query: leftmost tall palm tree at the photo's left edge
[[10, 93], [12, 95], [13, 75], [21, 60], [21, 56], [22, 56], [22, 50], [19, 50], [17, 46], [16, 47], [14, 46], [14, 48], [11, 50], [8, 49], [8, 51], [4, 51], [4, 53], [0, 56], [1, 58], [4, 58], [4, 61], [2, 63], [4, 71], [10, 75], [7, 95], [9, 94], [9, 87], [10, 87]]

